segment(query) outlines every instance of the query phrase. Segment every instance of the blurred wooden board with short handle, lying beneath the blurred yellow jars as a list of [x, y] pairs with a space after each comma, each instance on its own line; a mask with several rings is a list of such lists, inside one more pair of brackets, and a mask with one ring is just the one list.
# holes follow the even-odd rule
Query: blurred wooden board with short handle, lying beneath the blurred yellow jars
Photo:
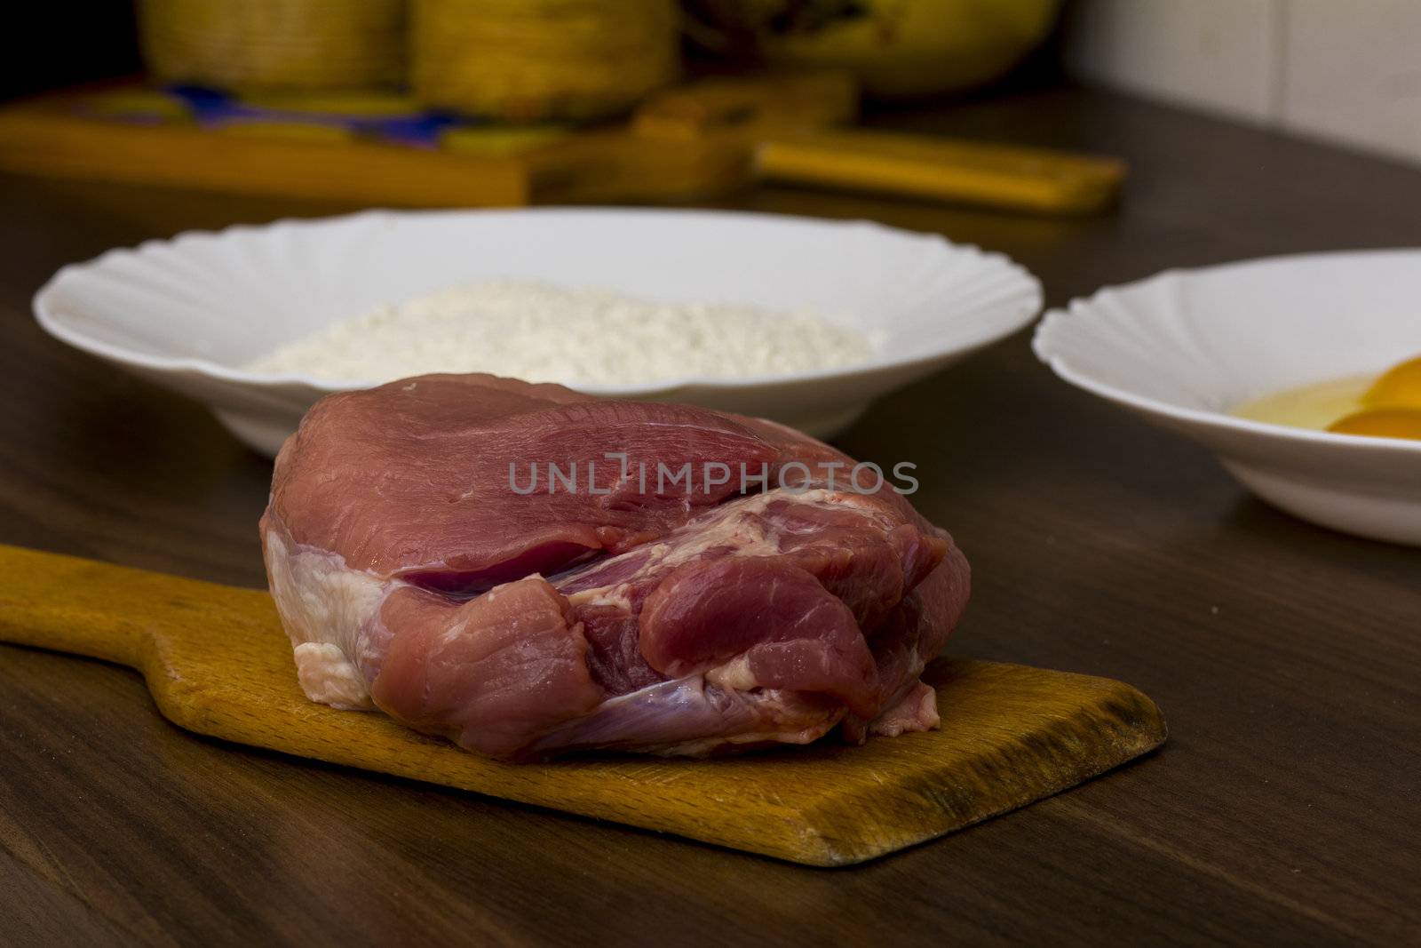
[[360, 112], [369, 97], [348, 98], [351, 114], [333, 94], [310, 112], [261, 101], [259, 121], [196, 121], [180, 95], [142, 85], [54, 92], [0, 107], [0, 169], [367, 206], [689, 200], [746, 183], [769, 128], [850, 121], [857, 87], [834, 71], [712, 78], [652, 97], [645, 122], [453, 122], [422, 146], [382, 138], [379, 115]]

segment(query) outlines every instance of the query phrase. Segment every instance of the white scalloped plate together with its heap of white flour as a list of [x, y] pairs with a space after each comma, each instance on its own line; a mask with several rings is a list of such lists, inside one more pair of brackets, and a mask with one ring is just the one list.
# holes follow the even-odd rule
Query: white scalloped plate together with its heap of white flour
[[209, 405], [273, 455], [320, 397], [433, 371], [682, 401], [821, 438], [1022, 328], [1009, 259], [868, 222], [375, 210], [185, 233], [60, 270], [57, 338]]

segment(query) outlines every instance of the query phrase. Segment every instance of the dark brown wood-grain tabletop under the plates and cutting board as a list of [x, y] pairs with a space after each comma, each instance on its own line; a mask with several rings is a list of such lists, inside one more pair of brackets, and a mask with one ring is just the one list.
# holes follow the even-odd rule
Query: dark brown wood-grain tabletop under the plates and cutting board
[[[1003, 250], [1053, 304], [1171, 266], [1421, 242], [1421, 171], [1185, 112], [1063, 90], [881, 121], [1134, 175], [1091, 220], [789, 189], [726, 206]], [[30, 294], [112, 244], [331, 210], [0, 179], [0, 542], [260, 586], [269, 463], [41, 335]], [[1162, 752], [823, 871], [200, 739], [132, 672], [0, 647], [0, 941], [1417, 941], [1421, 550], [1263, 506], [1027, 338], [882, 401], [843, 445], [917, 460], [917, 500], [972, 557], [952, 650], [1133, 682], [1169, 715]]]

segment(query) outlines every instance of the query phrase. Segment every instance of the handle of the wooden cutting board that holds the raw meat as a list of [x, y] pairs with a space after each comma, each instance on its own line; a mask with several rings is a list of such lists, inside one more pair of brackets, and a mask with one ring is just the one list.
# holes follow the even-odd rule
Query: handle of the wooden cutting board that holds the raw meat
[[152, 573], [0, 544], [0, 641], [142, 669], [173, 603]]

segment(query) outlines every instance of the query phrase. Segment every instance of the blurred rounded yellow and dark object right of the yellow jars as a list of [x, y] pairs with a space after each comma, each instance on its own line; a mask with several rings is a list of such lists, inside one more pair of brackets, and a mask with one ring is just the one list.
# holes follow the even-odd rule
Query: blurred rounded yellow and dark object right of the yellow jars
[[1060, 0], [685, 0], [706, 48], [854, 70], [877, 98], [1002, 78], [1050, 33]]

